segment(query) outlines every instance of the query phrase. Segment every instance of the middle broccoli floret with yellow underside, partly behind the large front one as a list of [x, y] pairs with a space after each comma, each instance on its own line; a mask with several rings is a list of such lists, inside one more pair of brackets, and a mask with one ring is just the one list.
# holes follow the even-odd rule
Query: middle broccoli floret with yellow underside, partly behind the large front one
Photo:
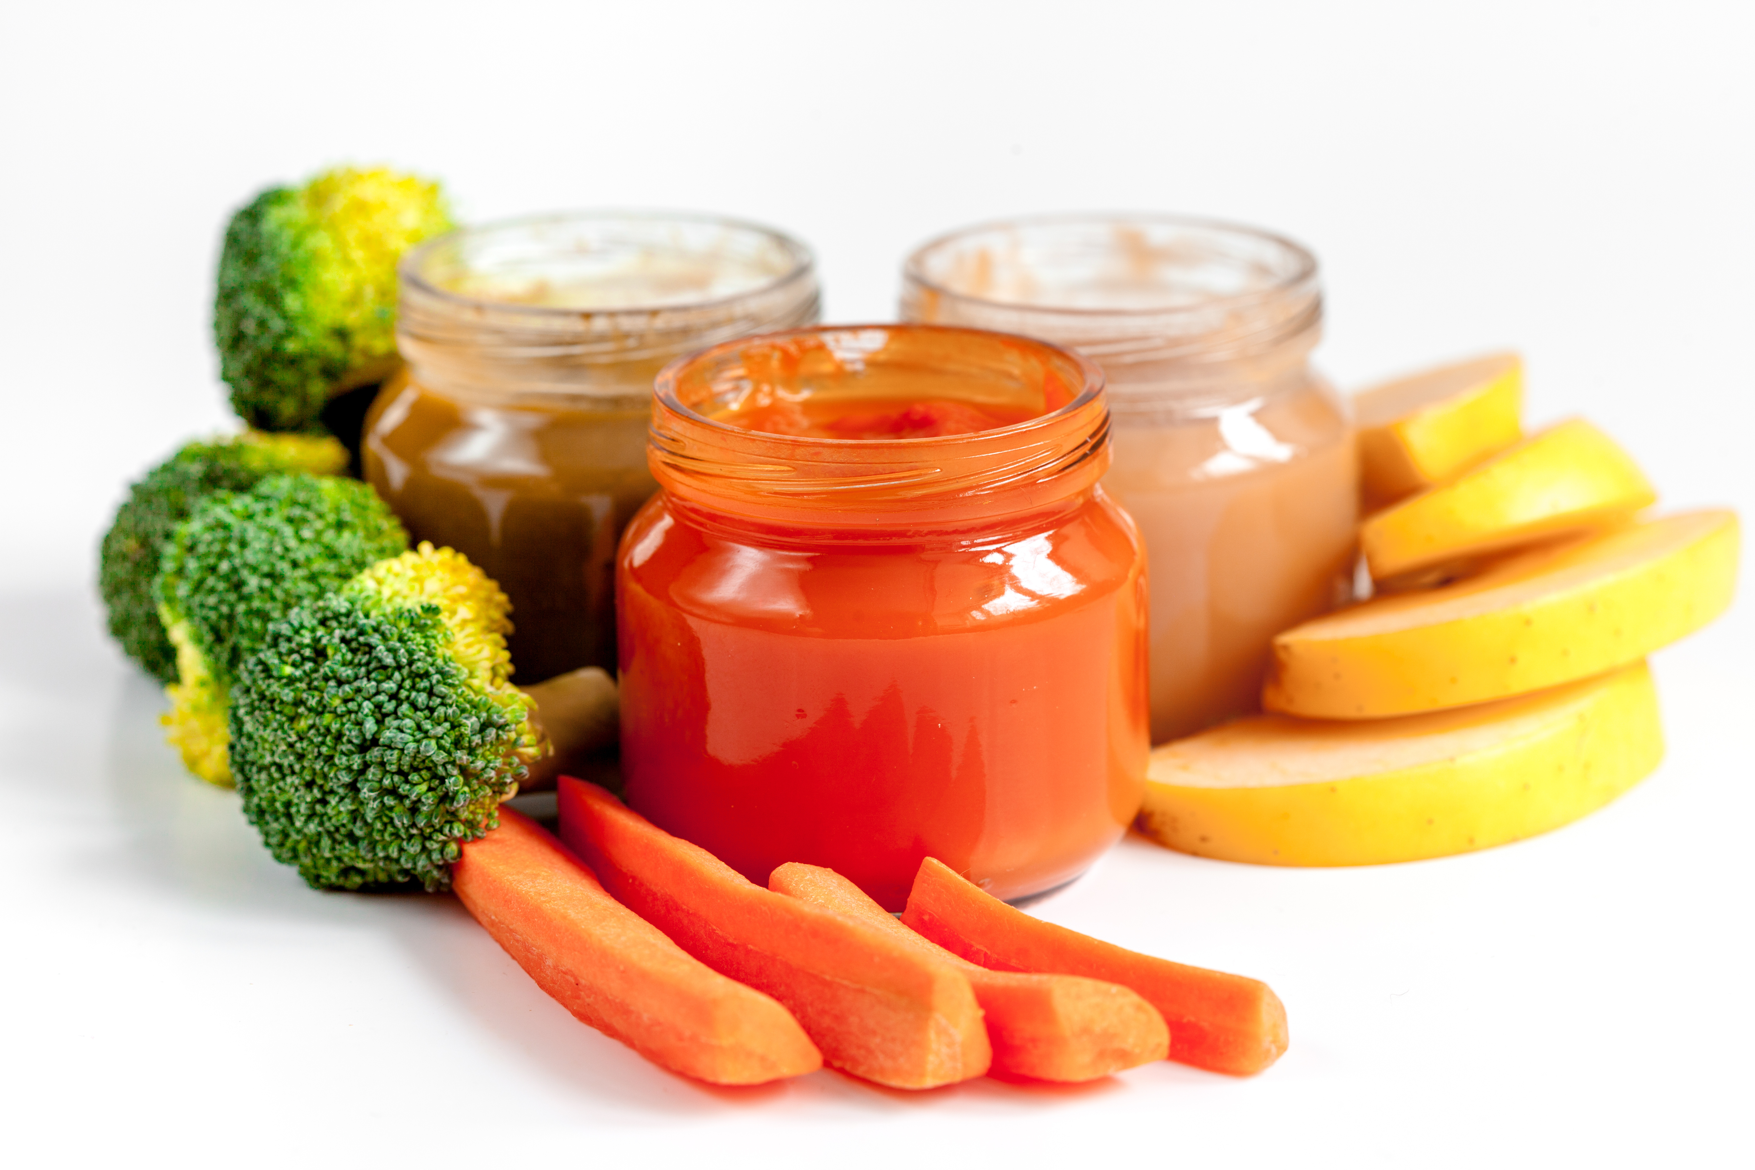
[[270, 475], [195, 505], [165, 544], [156, 582], [179, 675], [163, 723], [191, 772], [230, 782], [226, 698], [269, 623], [405, 547], [397, 517], [353, 479]]

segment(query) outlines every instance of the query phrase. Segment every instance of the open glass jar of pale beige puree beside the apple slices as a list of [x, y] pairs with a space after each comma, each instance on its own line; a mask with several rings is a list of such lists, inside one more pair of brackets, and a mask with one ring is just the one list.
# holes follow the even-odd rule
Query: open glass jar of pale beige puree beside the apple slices
[[1351, 596], [1351, 419], [1309, 365], [1314, 256], [1172, 216], [1002, 223], [916, 251], [902, 317], [1042, 337], [1102, 365], [1104, 488], [1151, 565], [1151, 738], [1257, 710], [1272, 637]]

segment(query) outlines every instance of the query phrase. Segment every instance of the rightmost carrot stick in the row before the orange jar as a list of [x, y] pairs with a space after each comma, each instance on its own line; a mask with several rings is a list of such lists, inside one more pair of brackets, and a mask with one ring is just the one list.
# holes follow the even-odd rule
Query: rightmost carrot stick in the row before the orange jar
[[1286, 1009], [1258, 979], [1185, 967], [1030, 917], [927, 858], [902, 921], [972, 963], [1006, 972], [1109, 979], [1146, 996], [1171, 1026], [1171, 1059], [1248, 1075], [1286, 1051]]

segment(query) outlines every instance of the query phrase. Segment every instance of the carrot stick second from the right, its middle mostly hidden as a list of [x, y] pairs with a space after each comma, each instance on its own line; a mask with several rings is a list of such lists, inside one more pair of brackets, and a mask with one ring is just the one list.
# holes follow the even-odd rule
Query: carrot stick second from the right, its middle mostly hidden
[[916, 935], [863, 889], [820, 865], [790, 861], [769, 875], [769, 889], [870, 923], [921, 956], [967, 975], [986, 1014], [992, 1072], [1037, 1081], [1095, 1081], [1169, 1052], [1171, 1033], [1158, 1009], [1128, 988], [1081, 975], [976, 967]]

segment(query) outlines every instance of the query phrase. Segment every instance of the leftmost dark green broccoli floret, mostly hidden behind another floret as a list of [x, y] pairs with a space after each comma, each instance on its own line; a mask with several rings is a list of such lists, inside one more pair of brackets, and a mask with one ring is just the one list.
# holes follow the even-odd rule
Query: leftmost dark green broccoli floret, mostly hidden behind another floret
[[170, 531], [216, 491], [249, 491], [283, 472], [335, 475], [347, 453], [330, 437], [263, 435], [200, 439], [147, 472], [116, 510], [98, 551], [98, 591], [111, 635], [160, 682], [176, 682], [177, 651], [158, 619], [153, 579]]

